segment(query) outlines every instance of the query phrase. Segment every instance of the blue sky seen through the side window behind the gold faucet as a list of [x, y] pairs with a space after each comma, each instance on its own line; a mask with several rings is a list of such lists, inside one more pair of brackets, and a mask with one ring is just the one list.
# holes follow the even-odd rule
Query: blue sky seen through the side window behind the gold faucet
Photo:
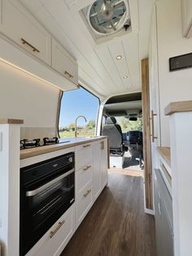
[[[90, 120], [95, 120], [98, 116], [98, 105], [98, 98], [83, 88], [64, 92], [60, 108], [59, 127], [70, 125], [80, 115], [86, 117], [87, 123]], [[87, 123], [83, 118], [78, 120], [79, 126], [84, 126]]]

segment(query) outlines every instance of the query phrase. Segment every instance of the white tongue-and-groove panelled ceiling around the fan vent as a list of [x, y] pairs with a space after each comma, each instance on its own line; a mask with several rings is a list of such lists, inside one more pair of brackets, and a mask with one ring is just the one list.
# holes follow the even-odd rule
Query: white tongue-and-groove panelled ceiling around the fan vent
[[[141, 91], [140, 62], [148, 55], [155, 0], [129, 0], [131, 32], [94, 41], [81, 9], [94, 0], [20, 0], [77, 60], [79, 81], [100, 98]], [[116, 60], [122, 55], [121, 60]], [[124, 78], [128, 76], [128, 78]]]

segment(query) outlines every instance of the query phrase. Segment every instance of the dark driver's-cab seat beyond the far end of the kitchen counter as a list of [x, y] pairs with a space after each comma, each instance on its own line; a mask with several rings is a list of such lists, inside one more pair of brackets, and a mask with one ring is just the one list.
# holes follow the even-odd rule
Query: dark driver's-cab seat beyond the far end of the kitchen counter
[[103, 135], [109, 138], [110, 152], [119, 154], [124, 152], [122, 130], [120, 125], [116, 124], [115, 117], [107, 117], [106, 125], [103, 126]]

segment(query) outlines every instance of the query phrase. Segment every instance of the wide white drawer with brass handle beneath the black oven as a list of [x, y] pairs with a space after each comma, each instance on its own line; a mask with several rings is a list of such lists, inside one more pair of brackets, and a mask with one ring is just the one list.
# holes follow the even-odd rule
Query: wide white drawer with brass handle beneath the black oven
[[[55, 235], [53, 232], [55, 232]], [[58, 222], [50, 228], [49, 232], [46, 232], [46, 235], [41, 238], [44, 243], [41, 246], [35, 245], [26, 256], [59, 256], [74, 232], [75, 205], [73, 204], [71, 208], [59, 218]], [[50, 237], [51, 235], [52, 237]]]

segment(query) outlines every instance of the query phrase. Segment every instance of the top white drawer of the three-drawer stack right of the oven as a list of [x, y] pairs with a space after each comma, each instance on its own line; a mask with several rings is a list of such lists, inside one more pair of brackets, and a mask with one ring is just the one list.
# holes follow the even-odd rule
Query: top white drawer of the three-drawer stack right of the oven
[[85, 143], [76, 146], [76, 170], [89, 164], [92, 161], [92, 146], [91, 143]]

